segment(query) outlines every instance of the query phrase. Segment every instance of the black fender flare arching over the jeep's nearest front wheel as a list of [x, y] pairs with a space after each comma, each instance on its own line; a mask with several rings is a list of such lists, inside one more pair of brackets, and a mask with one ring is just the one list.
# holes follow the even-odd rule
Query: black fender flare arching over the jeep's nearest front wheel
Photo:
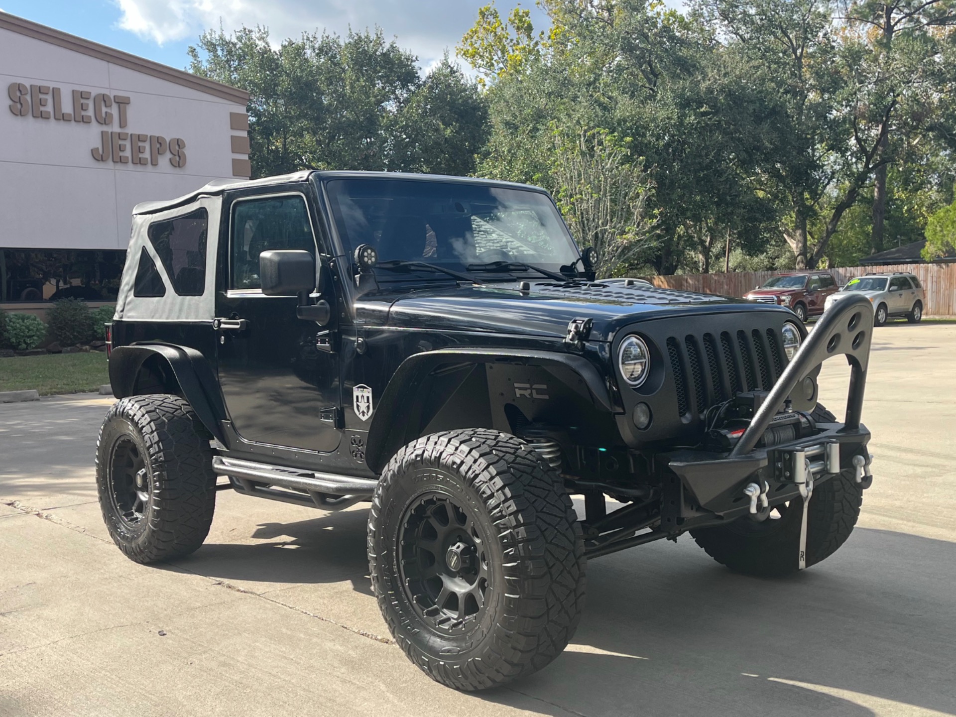
[[402, 361], [381, 395], [368, 431], [365, 452], [368, 467], [379, 473], [388, 459], [404, 445], [401, 417], [407, 408], [408, 397], [419, 393], [424, 381], [436, 367], [457, 362], [517, 363], [540, 366], [545, 370], [554, 367], [571, 369], [583, 380], [598, 411], [616, 412], [606, 380], [595, 365], [583, 356], [525, 349], [447, 348], [424, 351]]

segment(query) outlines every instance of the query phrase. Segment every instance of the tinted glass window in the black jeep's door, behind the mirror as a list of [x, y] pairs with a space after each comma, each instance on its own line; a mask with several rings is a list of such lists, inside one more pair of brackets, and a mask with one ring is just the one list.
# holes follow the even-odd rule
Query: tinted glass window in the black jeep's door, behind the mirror
[[266, 197], [232, 205], [229, 288], [260, 289], [259, 254], [305, 250], [315, 256], [309, 210], [300, 196]]

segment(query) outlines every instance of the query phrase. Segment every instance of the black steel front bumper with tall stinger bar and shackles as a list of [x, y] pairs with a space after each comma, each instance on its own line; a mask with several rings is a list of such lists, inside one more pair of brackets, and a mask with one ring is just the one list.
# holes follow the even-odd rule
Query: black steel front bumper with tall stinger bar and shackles
[[[838, 302], [817, 322], [750, 426], [726, 454], [681, 450], [660, 456], [669, 469], [664, 484], [662, 528], [693, 525], [766, 511], [799, 497], [807, 481], [843, 473], [862, 488], [870, 483], [870, 433], [860, 424], [873, 333], [873, 307], [863, 296]], [[826, 359], [846, 356], [850, 387], [842, 424], [817, 424], [819, 432], [788, 444], [755, 449], [794, 388]], [[754, 496], [756, 486], [759, 491]], [[750, 488], [749, 488], [750, 487]]]

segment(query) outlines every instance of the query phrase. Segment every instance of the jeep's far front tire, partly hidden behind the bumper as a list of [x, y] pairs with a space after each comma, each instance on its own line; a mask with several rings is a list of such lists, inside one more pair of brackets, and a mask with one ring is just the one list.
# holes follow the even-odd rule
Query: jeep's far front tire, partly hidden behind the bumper
[[[835, 423], [836, 418], [817, 405], [814, 419]], [[846, 542], [857, 524], [862, 490], [844, 471], [815, 487], [807, 516], [807, 567], [826, 559]], [[705, 528], [690, 534], [706, 554], [736, 573], [779, 577], [798, 569], [803, 502], [797, 498], [773, 523], [753, 523], [744, 517], [728, 526]]]

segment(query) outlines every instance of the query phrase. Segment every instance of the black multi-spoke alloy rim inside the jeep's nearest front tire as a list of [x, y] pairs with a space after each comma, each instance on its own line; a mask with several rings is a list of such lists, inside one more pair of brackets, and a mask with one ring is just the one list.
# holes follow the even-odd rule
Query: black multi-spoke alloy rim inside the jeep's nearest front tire
[[449, 495], [424, 493], [405, 510], [399, 574], [415, 612], [437, 632], [467, 632], [484, 616], [493, 591], [486, 544], [471, 511]]

